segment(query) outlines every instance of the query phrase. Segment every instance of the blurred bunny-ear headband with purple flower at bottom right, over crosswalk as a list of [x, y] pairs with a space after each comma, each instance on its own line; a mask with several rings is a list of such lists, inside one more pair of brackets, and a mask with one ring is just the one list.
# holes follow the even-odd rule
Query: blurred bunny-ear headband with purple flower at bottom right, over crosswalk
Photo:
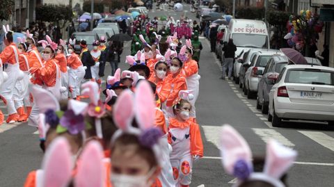
[[276, 140], [267, 143], [267, 155], [263, 172], [253, 172], [252, 153], [246, 140], [228, 124], [221, 129], [221, 156], [228, 174], [243, 181], [265, 181], [276, 187], [284, 187], [280, 177], [292, 166], [297, 152], [280, 145]]

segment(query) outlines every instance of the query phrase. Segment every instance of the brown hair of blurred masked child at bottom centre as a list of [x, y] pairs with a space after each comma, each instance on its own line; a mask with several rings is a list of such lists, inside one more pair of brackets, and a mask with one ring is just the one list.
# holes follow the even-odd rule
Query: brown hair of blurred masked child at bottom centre
[[[129, 149], [129, 145], [135, 146], [132, 146], [131, 149]], [[129, 133], [123, 133], [115, 140], [115, 142], [111, 146], [111, 156], [113, 154], [125, 154], [125, 152], [129, 152], [130, 150], [132, 151], [133, 155], [138, 154], [146, 161], [148, 161], [150, 168], [154, 168], [158, 165], [157, 158], [155, 157], [152, 149], [141, 145], [138, 137], [134, 134]]]

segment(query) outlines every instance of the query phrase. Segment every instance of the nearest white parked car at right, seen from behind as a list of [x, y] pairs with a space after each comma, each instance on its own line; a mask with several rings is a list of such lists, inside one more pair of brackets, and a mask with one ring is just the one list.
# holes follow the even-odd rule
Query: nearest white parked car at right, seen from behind
[[268, 120], [316, 120], [334, 125], [334, 68], [286, 65], [269, 95]]

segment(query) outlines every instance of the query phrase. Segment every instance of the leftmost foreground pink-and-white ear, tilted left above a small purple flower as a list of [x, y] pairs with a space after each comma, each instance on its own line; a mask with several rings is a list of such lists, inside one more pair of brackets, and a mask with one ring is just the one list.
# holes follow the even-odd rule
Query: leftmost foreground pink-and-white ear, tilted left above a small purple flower
[[40, 113], [45, 113], [48, 109], [54, 111], [61, 110], [58, 100], [48, 90], [38, 88], [37, 86], [31, 86], [30, 90], [33, 98], [38, 98], [35, 99], [35, 104], [38, 106]]

